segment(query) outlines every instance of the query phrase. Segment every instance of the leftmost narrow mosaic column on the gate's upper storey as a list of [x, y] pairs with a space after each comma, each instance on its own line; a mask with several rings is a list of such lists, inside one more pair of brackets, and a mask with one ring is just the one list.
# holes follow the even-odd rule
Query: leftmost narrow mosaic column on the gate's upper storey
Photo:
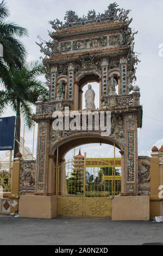
[[57, 90], [57, 66], [51, 68], [51, 86], [49, 88], [49, 101], [54, 101]]

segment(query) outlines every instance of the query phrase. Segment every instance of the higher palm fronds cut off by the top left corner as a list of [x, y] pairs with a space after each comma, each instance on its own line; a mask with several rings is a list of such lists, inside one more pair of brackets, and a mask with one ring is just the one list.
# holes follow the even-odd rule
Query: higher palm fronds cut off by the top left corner
[[9, 17], [9, 10], [3, 0], [0, 3], [0, 43], [3, 45], [3, 59], [0, 58], [0, 78], [1, 72], [11, 66], [21, 68], [27, 54], [22, 42], [17, 39], [17, 37], [22, 38], [22, 36], [28, 35], [27, 29], [17, 26], [13, 22], [5, 22], [7, 17]]

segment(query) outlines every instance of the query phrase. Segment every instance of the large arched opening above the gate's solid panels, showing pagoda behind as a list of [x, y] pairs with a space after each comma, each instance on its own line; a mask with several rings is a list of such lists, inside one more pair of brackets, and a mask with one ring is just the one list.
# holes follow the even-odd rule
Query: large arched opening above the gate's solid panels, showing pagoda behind
[[84, 177], [85, 197], [110, 197], [121, 193], [121, 154], [116, 148], [114, 166], [111, 145], [90, 143], [71, 149], [65, 155], [65, 173], [66, 193], [70, 196], [83, 195]]

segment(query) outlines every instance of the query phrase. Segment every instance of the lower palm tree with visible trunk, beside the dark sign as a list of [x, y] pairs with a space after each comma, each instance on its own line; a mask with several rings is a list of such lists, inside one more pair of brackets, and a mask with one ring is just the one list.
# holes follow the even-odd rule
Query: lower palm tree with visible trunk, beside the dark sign
[[[42, 81], [37, 77], [44, 74], [42, 64], [38, 61], [22, 64], [21, 69], [11, 67], [10, 70], [2, 72], [0, 90], [0, 114], [10, 105], [16, 112], [16, 132], [17, 141], [20, 142], [21, 115], [24, 123], [30, 129], [34, 121], [32, 120], [32, 105], [35, 105], [37, 97], [42, 95], [47, 99], [48, 90]], [[14, 157], [19, 152], [19, 145], [15, 141]]]

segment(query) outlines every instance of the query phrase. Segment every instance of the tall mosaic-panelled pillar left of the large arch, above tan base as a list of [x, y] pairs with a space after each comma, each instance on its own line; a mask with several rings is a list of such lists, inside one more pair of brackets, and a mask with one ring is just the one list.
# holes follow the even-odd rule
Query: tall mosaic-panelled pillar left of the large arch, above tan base
[[47, 193], [49, 133], [49, 121], [40, 122], [38, 124], [37, 133], [37, 161], [35, 184], [35, 194], [40, 195], [44, 195]]

